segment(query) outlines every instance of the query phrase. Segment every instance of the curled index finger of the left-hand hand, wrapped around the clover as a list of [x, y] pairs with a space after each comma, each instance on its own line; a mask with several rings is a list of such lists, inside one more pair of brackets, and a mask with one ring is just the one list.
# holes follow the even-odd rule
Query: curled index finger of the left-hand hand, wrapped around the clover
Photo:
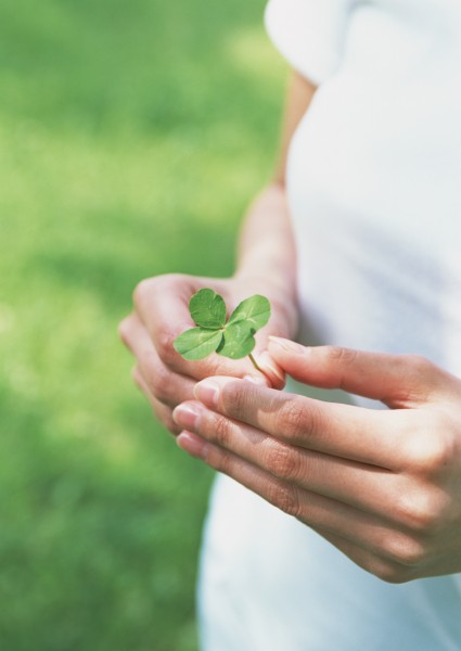
[[[240, 378], [248, 375], [260, 381], [267, 380], [268, 385], [281, 388], [284, 385], [284, 373], [273, 361], [265, 363], [262, 373], [255, 369], [248, 358], [230, 360], [213, 354], [203, 360], [188, 361], [175, 350], [174, 342], [177, 336], [194, 326], [189, 312], [189, 301], [197, 290], [207, 284], [209, 281], [206, 280], [165, 276], [138, 285], [135, 292], [136, 311], [149, 331], [159, 358], [177, 373], [191, 375], [196, 380], [216, 374]], [[219, 286], [216, 289], [222, 292]]]

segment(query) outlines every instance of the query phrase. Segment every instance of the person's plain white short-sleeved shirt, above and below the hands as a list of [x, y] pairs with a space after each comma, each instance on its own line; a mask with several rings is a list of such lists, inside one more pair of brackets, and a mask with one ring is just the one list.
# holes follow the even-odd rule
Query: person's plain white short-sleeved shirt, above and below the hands
[[[418, 353], [461, 375], [461, 2], [271, 0], [266, 15], [319, 85], [287, 167], [303, 337]], [[220, 478], [203, 646], [460, 651], [459, 584], [385, 584]]]

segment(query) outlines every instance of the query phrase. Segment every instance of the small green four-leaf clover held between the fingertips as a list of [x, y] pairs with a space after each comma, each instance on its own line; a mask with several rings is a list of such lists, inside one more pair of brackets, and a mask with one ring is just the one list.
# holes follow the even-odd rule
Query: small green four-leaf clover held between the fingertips
[[270, 303], [256, 294], [242, 301], [226, 322], [226, 303], [210, 289], [200, 290], [189, 302], [189, 311], [195, 328], [180, 334], [175, 349], [188, 360], [197, 360], [218, 353], [230, 359], [248, 356], [260, 371], [252, 350], [256, 345], [255, 333], [270, 318]]

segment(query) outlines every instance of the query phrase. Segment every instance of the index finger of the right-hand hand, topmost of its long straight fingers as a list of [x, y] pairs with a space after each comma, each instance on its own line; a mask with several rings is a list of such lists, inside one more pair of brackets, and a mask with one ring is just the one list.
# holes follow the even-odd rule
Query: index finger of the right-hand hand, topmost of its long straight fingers
[[414, 430], [409, 411], [381, 411], [324, 403], [232, 378], [195, 386], [195, 398], [214, 411], [310, 450], [398, 470], [404, 442]]

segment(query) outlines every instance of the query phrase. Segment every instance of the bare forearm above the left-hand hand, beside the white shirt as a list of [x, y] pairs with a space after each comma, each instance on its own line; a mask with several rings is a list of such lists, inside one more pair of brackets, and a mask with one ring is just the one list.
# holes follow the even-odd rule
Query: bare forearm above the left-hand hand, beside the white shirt
[[296, 320], [296, 251], [282, 184], [268, 186], [248, 209], [239, 241], [235, 279], [271, 294], [269, 298]]

